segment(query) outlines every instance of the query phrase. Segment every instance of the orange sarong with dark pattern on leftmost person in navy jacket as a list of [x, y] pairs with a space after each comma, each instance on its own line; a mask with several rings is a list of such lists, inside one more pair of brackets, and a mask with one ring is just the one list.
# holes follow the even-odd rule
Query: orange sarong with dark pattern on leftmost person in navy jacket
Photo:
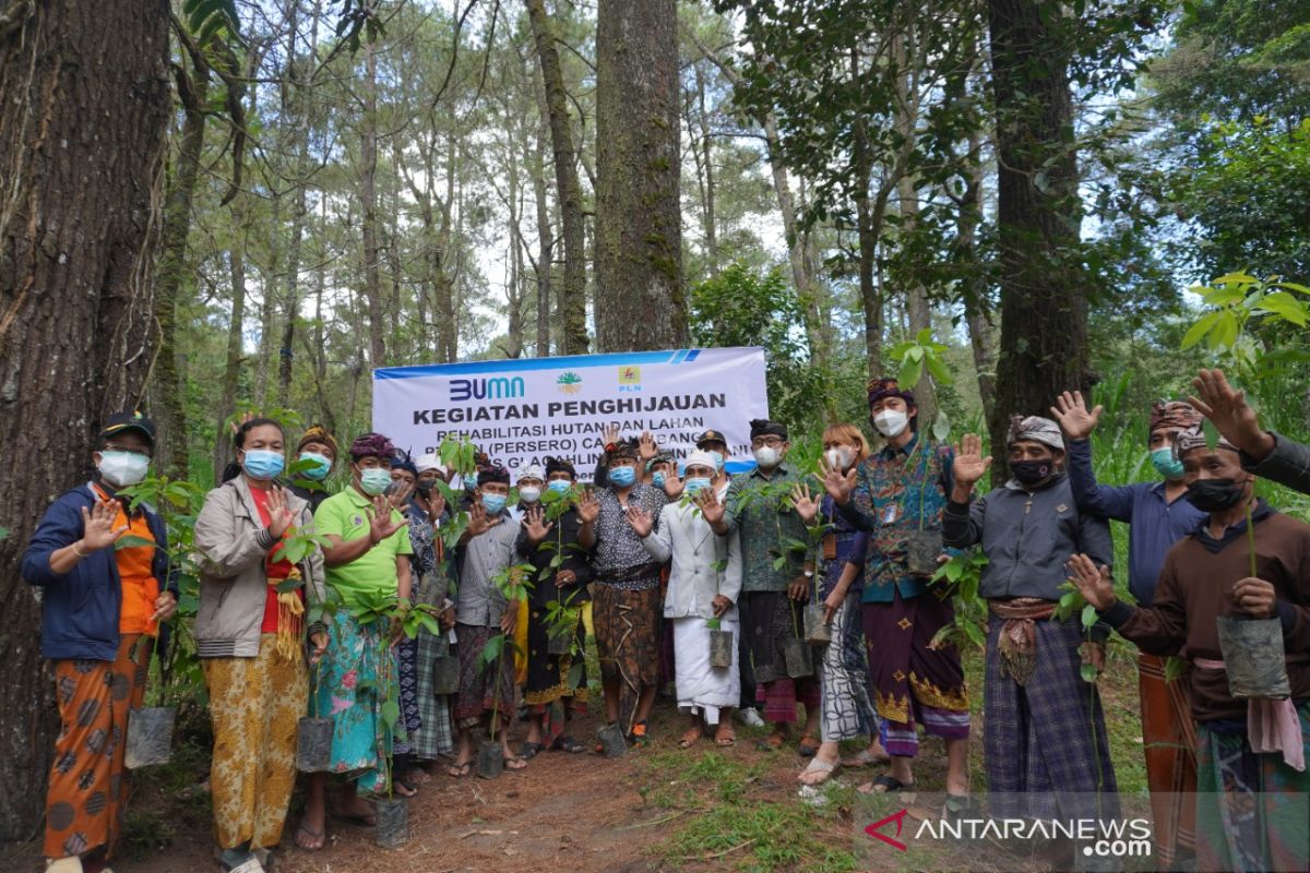
[[127, 711], [140, 707], [145, 695], [149, 643], [127, 633], [111, 662], [54, 662], [60, 729], [46, 793], [46, 857], [83, 855], [98, 846], [113, 855], [130, 793], [123, 767]]

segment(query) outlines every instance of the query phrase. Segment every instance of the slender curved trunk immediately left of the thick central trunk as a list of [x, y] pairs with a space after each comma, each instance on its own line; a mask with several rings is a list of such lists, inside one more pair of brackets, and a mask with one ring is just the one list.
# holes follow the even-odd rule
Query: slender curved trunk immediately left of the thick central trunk
[[569, 120], [569, 96], [565, 92], [559, 51], [546, 14], [545, 0], [527, 0], [532, 33], [537, 42], [537, 59], [546, 89], [550, 116], [550, 143], [554, 148], [555, 187], [558, 190], [559, 224], [563, 236], [565, 275], [559, 287], [559, 351], [584, 355], [587, 338], [587, 241], [583, 219], [582, 182], [578, 179], [578, 153], [574, 148], [572, 123]]

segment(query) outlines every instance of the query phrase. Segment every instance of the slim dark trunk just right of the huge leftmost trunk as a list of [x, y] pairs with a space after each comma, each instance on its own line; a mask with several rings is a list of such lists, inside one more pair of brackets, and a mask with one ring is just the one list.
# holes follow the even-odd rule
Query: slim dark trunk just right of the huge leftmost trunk
[[177, 170], [164, 198], [164, 229], [160, 233], [160, 259], [155, 271], [155, 317], [160, 326], [160, 348], [151, 394], [159, 401], [153, 410], [159, 425], [159, 470], [185, 479], [186, 402], [182, 386], [186, 376], [182, 351], [177, 343], [177, 310], [182, 279], [190, 275], [186, 241], [191, 234], [191, 200], [200, 170], [204, 122], [210, 111], [210, 67], [203, 52], [183, 51], [182, 65], [174, 68], [174, 79], [182, 103], [182, 136], [178, 141]]

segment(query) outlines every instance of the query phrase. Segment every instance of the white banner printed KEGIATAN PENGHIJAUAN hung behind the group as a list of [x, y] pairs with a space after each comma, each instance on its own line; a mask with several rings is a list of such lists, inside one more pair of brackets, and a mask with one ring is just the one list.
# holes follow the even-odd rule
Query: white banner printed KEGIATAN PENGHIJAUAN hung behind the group
[[[411, 454], [464, 435], [511, 472], [569, 458], [590, 480], [601, 431], [643, 431], [679, 458], [722, 431], [728, 470], [755, 466], [749, 421], [769, 415], [760, 348], [692, 348], [373, 370], [373, 429]], [[735, 461], [732, 459], [735, 458]]]

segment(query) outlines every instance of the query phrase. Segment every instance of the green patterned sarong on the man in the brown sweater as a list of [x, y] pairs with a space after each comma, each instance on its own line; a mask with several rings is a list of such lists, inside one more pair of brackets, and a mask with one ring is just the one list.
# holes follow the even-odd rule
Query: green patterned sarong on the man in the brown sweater
[[[1310, 746], [1310, 700], [1297, 707]], [[1310, 869], [1310, 770], [1258, 754], [1244, 733], [1196, 729], [1196, 869]]]

